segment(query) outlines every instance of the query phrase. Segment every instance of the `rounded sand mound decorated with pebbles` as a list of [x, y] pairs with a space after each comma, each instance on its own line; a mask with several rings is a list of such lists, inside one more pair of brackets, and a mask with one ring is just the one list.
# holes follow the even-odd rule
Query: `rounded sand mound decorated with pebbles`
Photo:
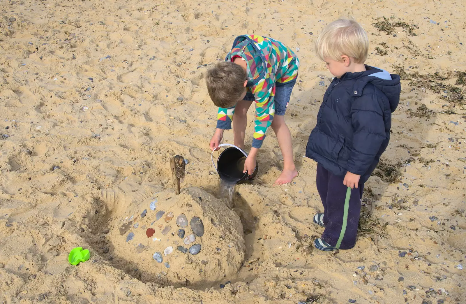
[[[157, 198], [156, 206], [151, 204], [152, 197], [130, 203], [115, 214], [108, 234], [116, 248], [115, 263], [144, 269], [141, 281], [161, 285], [220, 281], [240, 269], [245, 252], [243, 228], [238, 215], [223, 201], [197, 187], [179, 195], [168, 189], [157, 193]], [[128, 225], [130, 220], [137, 221], [138, 228]]]

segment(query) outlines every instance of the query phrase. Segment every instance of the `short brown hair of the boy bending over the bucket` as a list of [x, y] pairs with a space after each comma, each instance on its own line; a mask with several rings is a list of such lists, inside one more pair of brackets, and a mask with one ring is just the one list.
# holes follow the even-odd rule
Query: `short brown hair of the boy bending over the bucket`
[[244, 69], [234, 62], [218, 62], [206, 74], [207, 91], [219, 108], [230, 108], [239, 101], [245, 81]]

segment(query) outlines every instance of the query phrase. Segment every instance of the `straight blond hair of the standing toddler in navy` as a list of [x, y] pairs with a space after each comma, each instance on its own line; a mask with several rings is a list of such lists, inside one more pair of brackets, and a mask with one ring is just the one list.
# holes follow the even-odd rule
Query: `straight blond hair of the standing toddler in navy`
[[342, 55], [364, 63], [369, 52], [369, 38], [363, 27], [354, 19], [340, 18], [330, 23], [315, 42], [317, 56], [342, 61]]

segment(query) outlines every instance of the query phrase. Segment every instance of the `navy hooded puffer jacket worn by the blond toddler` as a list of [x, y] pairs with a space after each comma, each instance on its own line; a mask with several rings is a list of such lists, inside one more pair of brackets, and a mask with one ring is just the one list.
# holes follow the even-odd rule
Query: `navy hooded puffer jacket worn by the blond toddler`
[[335, 77], [309, 135], [306, 156], [335, 175], [361, 175], [359, 183], [365, 183], [387, 148], [400, 91], [400, 76], [370, 66]]

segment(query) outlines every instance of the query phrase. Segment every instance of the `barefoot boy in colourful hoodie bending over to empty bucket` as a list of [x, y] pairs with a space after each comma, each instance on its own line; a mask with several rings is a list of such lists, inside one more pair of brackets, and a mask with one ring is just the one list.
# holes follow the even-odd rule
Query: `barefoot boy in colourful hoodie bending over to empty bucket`
[[210, 142], [218, 149], [223, 132], [232, 128], [234, 145], [244, 148], [247, 110], [255, 101], [254, 134], [244, 172], [252, 174], [256, 156], [269, 126], [277, 136], [283, 156], [283, 171], [277, 185], [291, 182], [298, 172], [293, 159], [291, 134], [285, 111], [298, 76], [295, 53], [280, 41], [258, 35], [236, 37], [225, 62], [219, 62], [206, 75], [207, 90], [219, 107], [217, 129]]

